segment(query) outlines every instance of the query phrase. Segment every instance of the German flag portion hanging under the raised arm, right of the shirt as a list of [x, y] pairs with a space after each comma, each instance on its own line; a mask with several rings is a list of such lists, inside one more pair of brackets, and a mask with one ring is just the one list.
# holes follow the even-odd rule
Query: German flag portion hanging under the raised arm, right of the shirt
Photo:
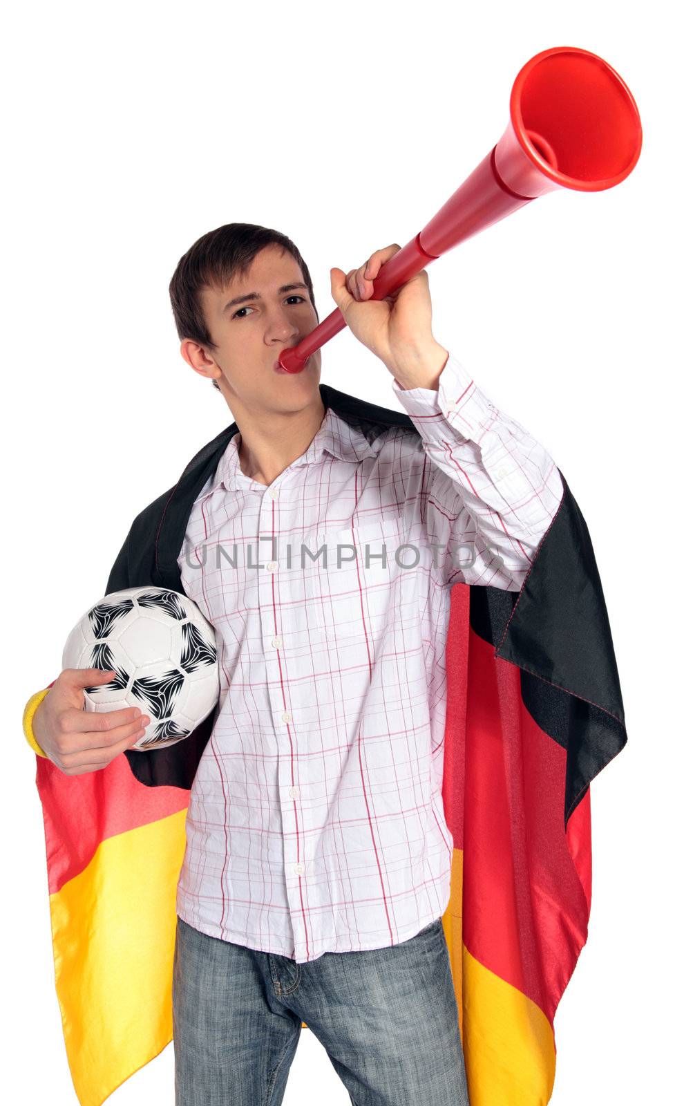
[[546, 1106], [554, 1016], [587, 940], [591, 780], [624, 747], [585, 520], [564, 499], [519, 593], [456, 584], [444, 915], [472, 1106]]

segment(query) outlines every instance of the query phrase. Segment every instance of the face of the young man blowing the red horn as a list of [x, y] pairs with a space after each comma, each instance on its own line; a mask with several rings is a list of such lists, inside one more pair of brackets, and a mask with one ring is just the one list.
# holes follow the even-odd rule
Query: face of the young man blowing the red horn
[[236, 417], [241, 409], [295, 411], [319, 400], [319, 349], [301, 373], [276, 368], [281, 351], [297, 345], [317, 326], [302, 270], [291, 253], [280, 246], [264, 247], [244, 276], [228, 288], [201, 291], [200, 303], [217, 348], [186, 338], [181, 353], [196, 372], [218, 382]]

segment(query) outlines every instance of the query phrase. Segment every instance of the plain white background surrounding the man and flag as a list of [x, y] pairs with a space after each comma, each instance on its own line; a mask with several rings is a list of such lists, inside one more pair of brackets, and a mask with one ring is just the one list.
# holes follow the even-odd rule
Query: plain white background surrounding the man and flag
[[[324, 319], [330, 267], [414, 237], [502, 136], [519, 69], [555, 45], [622, 75], [641, 159], [614, 189], [541, 197], [433, 262], [433, 333], [562, 470], [625, 703], [628, 745], [591, 787], [589, 940], [556, 1016], [553, 1103], [680, 1093], [680, 39], [664, 3], [474, 7], [25, 3], [6, 15], [6, 1100], [76, 1103], [24, 701], [59, 674], [134, 515], [232, 421], [180, 356], [167, 291], [178, 259], [224, 222], [282, 230]], [[323, 379], [398, 406], [348, 330], [325, 345]], [[111, 1102], [170, 1104], [172, 1079], [167, 1047]], [[285, 1104], [322, 1095], [348, 1103], [305, 1030]]]

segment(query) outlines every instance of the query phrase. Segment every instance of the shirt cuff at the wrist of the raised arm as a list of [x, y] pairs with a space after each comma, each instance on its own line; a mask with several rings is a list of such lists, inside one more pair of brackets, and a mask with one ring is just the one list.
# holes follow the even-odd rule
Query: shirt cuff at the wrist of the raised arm
[[439, 387], [404, 388], [392, 379], [394, 395], [425, 437], [442, 419], [464, 439], [478, 442], [496, 418], [497, 409], [472, 376], [451, 354], [439, 376]]

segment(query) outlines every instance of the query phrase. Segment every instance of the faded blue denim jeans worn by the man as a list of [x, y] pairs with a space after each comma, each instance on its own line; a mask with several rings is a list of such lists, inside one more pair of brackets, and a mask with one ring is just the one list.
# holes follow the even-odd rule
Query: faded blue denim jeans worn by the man
[[399, 945], [306, 963], [178, 918], [176, 1106], [278, 1106], [306, 1022], [354, 1106], [467, 1106], [442, 919]]

